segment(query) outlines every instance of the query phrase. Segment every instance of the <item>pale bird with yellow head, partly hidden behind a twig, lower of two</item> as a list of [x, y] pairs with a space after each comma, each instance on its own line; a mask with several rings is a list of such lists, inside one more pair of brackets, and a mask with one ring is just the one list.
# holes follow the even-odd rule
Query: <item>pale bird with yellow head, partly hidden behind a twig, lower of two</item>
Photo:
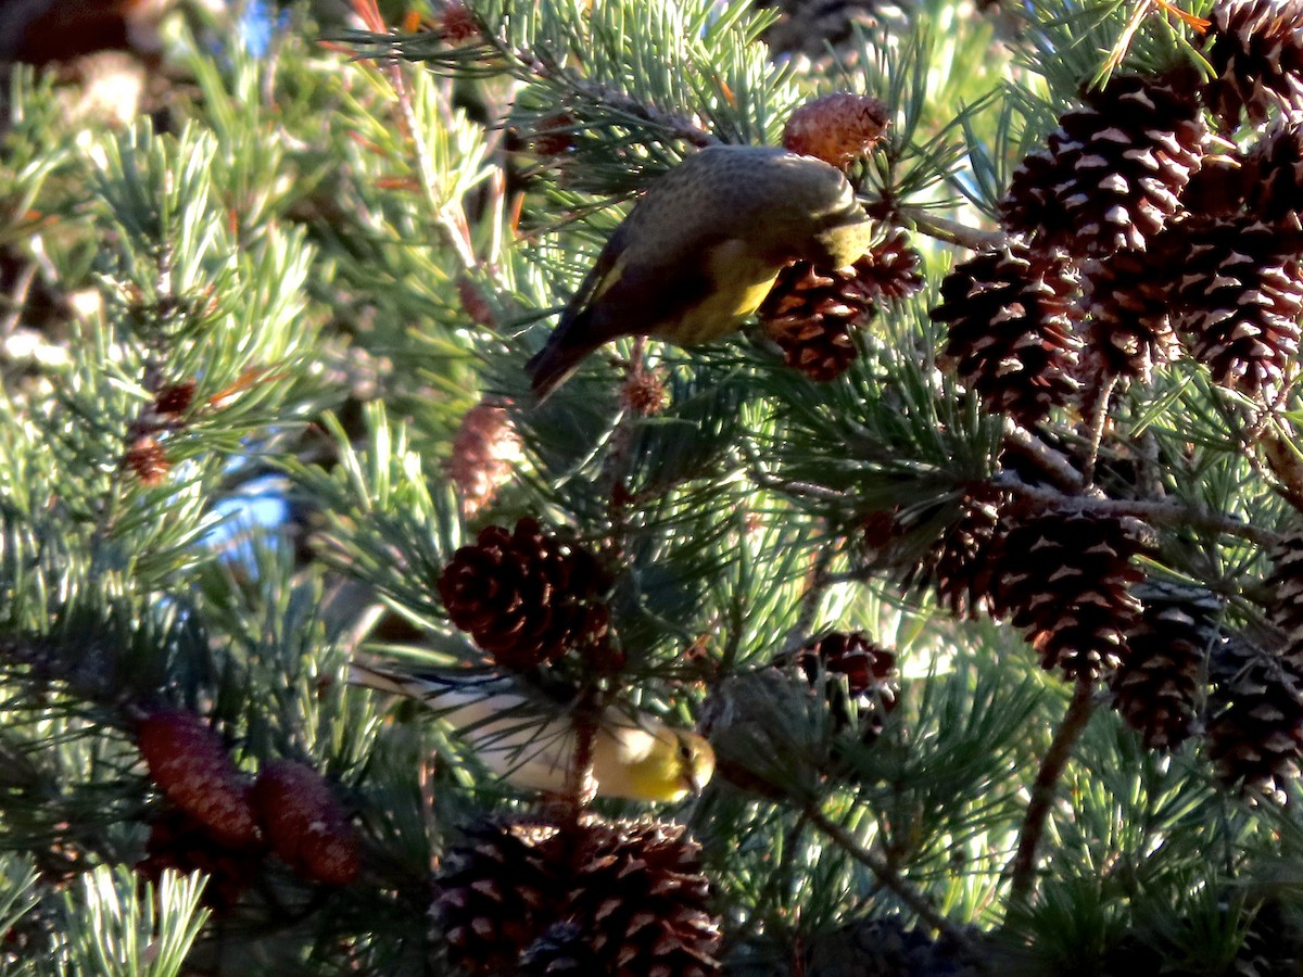
[[[480, 761], [513, 787], [558, 795], [571, 787], [577, 746], [571, 716], [545, 714], [511, 679], [400, 673], [354, 662], [349, 683], [438, 711]], [[679, 801], [700, 793], [714, 770], [715, 754], [704, 737], [649, 714], [631, 718], [610, 709], [593, 737], [598, 797]]]

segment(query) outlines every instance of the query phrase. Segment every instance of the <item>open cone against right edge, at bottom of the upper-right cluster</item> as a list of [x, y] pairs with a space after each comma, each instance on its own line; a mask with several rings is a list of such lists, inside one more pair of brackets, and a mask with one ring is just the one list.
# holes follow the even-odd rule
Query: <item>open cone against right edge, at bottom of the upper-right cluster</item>
[[1253, 216], [1192, 219], [1182, 229], [1177, 324], [1191, 353], [1214, 382], [1269, 396], [1299, 349], [1299, 233]]

